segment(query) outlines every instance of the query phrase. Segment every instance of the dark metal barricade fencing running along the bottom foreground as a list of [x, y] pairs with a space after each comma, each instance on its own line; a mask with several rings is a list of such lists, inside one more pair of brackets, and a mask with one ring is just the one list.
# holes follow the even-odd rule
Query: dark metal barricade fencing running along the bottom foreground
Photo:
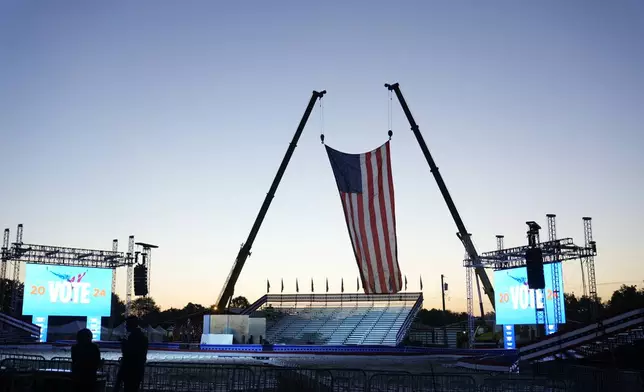
[[[0, 353], [0, 392], [69, 391], [71, 359], [40, 356], [3, 356]], [[104, 361], [99, 369], [100, 391], [114, 391], [118, 361]], [[572, 369], [572, 367], [571, 367]], [[313, 392], [600, 392], [640, 391], [637, 372], [607, 373], [577, 366], [571, 377], [535, 372], [532, 377], [476, 374], [311, 369], [269, 365], [148, 362], [141, 391], [313, 391]], [[541, 373], [544, 372], [541, 369]], [[122, 389], [121, 389], [122, 390]]]

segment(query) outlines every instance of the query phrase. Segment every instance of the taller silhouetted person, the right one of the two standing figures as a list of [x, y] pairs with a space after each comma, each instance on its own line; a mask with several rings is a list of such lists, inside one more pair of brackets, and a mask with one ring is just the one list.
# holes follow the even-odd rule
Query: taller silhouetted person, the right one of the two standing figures
[[139, 328], [139, 319], [136, 316], [130, 316], [125, 320], [125, 328], [129, 335], [121, 341], [121, 367], [116, 390], [119, 390], [122, 381], [125, 392], [137, 392], [143, 381], [148, 356], [148, 338]]

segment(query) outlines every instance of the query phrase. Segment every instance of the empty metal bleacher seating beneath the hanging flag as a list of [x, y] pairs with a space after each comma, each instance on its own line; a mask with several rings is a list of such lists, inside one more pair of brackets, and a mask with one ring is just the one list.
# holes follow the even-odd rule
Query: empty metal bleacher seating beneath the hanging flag
[[422, 301], [421, 293], [267, 294], [245, 313], [267, 316], [273, 344], [395, 346]]

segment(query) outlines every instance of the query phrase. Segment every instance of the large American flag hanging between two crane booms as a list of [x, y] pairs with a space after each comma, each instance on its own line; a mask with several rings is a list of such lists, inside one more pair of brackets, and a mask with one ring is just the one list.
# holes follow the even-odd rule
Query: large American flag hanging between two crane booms
[[402, 290], [389, 143], [363, 154], [326, 146], [367, 294]]

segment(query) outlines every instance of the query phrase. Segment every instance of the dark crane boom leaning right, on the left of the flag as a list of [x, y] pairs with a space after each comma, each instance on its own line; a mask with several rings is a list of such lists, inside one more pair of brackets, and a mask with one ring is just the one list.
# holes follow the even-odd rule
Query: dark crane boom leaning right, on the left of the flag
[[223, 312], [228, 307], [228, 303], [232, 299], [235, 284], [237, 283], [239, 274], [241, 273], [242, 268], [244, 268], [246, 259], [248, 259], [248, 256], [250, 256], [250, 249], [253, 247], [253, 242], [255, 242], [255, 237], [257, 237], [257, 232], [259, 232], [259, 228], [264, 221], [266, 212], [268, 212], [268, 207], [270, 207], [271, 201], [273, 200], [273, 197], [275, 197], [275, 192], [277, 191], [277, 187], [282, 180], [282, 176], [284, 176], [286, 166], [288, 166], [288, 163], [291, 160], [291, 156], [293, 156], [293, 151], [295, 151], [295, 147], [297, 147], [297, 142], [300, 139], [300, 135], [302, 135], [302, 131], [306, 126], [306, 122], [309, 120], [309, 116], [311, 115], [311, 111], [313, 110], [315, 102], [318, 99], [321, 99], [324, 94], [326, 94], [326, 90], [313, 91], [313, 94], [311, 95], [309, 104], [306, 106], [304, 115], [302, 116], [300, 124], [297, 126], [297, 130], [295, 131], [295, 135], [293, 135], [293, 139], [291, 140], [291, 143], [286, 150], [286, 154], [282, 159], [282, 163], [280, 164], [279, 169], [277, 169], [277, 174], [273, 179], [273, 183], [271, 184], [271, 187], [268, 190], [266, 197], [264, 198], [264, 203], [262, 203], [262, 206], [259, 209], [259, 213], [257, 214], [257, 218], [255, 218], [255, 223], [253, 223], [253, 227], [250, 229], [250, 233], [248, 234], [246, 242], [244, 242], [241, 246], [241, 249], [239, 249], [239, 253], [237, 254], [237, 258], [235, 258], [233, 268], [230, 270], [228, 278], [226, 278], [226, 283], [221, 289], [221, 293], [219, 294], [219, 298], [217, 299], [217, 303], [215, 305], [217, 312]]

